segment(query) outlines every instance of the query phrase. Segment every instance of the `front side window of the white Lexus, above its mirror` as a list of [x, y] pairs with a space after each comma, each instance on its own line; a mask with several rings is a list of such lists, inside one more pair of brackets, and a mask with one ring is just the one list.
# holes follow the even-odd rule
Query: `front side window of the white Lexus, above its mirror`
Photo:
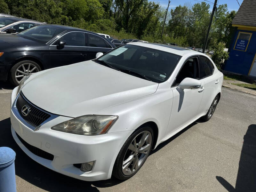
[[193, 79], [199, 79], [199, 68], [197, 57], [190, 58], [185, 61], [183, 67], [181, 68], [178, 76], [176, 77], [173, 86], [180, 84], [180, 82], [186, 77]]

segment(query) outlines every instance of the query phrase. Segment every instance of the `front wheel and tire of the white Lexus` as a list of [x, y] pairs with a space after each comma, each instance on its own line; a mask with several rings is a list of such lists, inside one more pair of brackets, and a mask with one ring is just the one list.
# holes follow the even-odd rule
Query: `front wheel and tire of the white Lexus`
[[121, 148], [112, 175], [126, 180], [135, 175], [145, 163], [153, 144], [153, 130], [144, 126], [133, 132]]

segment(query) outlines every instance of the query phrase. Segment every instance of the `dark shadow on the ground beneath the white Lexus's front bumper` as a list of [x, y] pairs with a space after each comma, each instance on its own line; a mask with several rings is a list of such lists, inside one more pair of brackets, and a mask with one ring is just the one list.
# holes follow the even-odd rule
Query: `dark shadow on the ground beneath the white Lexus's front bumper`
[[[10, 118], [0, 121], [0, 147], [10, 147], [16, 153], [15, 174], [27, 182], [52, 192], [92, 191], [98, 192], [97, 187], [111, 187], [123, 181], [115, 178], [103, 181], [82, 181], [54, 172], [28, 157], [12, 138]], [[22, 185], [22, 180], [19, 185]], [[24, 183], [22, 186], [26, 186]], [[19, 189], [18, 189], [19, 191]]]

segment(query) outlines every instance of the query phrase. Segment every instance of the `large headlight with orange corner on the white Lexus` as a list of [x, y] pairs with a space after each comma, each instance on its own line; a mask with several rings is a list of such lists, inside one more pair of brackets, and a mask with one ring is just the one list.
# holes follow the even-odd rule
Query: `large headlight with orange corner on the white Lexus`
[[57, 124], [51, 129], [79, 135], [101, 135], [108, 132], [117, 118], [108, 115], [85, 115]]

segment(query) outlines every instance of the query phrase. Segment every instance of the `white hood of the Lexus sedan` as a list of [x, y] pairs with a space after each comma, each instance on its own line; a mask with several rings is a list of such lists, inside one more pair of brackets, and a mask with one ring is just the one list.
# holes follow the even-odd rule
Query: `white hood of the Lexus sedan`
[[28, 78], [22, 93], [50, 113], [77, 117], [152, 94], [157, 86], [89, 60], [38, 72]]

